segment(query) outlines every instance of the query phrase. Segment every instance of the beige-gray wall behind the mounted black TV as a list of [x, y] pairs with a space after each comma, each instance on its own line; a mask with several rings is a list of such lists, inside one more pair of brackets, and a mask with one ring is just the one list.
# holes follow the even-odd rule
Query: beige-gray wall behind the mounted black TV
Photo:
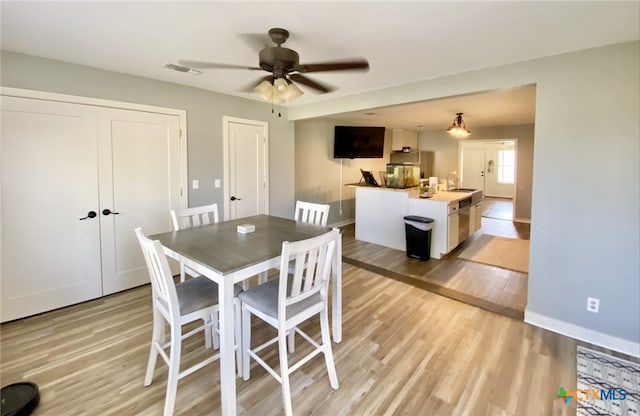
[[345, 184], [360, 181], [360, 169], [371, 171], [376, 181], [380, 182], [378, 172], [387, 168], [393, 130], [385, 131], [382, 159], [334, 159], [334, 127], [344, 125], [344, 122], [318, 119], [295, 124], [295, 198], [329, 204], [329, 224], [351, 222], [355, 218], [355, 190]]

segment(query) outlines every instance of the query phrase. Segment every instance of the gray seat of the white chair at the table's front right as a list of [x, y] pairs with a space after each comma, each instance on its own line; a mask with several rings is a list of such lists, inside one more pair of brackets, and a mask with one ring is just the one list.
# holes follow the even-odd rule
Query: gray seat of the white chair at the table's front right
[[[291, 287], [291, 276], [289, 276], [289, 284]], [[280, 288], [280, 280], [269, 280], [251, 289], [245, 290], [238, 295], [240, 300], [254, 309], [258, 309], [273, 319], [278, 319], [278, 289]], [[305, 309], [315, 304], [322, 303], [320, 293], [315, 293], [300, 302], [294, 303], [287, 307], [287, 318], [298, 315]]]

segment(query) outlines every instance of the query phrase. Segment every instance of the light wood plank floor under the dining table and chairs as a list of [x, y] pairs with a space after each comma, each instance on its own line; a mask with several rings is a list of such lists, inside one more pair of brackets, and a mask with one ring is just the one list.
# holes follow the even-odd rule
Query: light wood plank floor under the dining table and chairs
[[[343, 284], [344, 338], [333, 344], [340, 388], [331, 389], [316, 357], [292, 376], [294, 414], [575, 414], [575, 401], [555, 394], [576, 386], [577, 341], [349, 264]], [[2, 385], [37, 383], [34, 416], [160, 415], [160, 360], [153, 384], [142, 385], [150, 300], [143, 286], [3, 324]], [[304, 329], [319, 336], [316, 323]], [[272, 332], [254, 321], [254, 334], [257, 343]], [[300, 340], [296, 355], [305, 351]], [[193, 337], [183, 366], [206, 352]], [[267, 361], [276, 360], [274, 350]], [[216, 362], [181, 380], [175, 414], [219, 415], [218, 377]], [[255, 363], [237, 390], [240, 414], [282, 414], [280, 385]]]

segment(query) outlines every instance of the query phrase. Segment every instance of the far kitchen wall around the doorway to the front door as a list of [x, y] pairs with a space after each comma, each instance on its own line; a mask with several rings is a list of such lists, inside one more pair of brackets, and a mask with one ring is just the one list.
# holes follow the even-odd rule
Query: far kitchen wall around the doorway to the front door
[[[535, 126], [533, 124], [522, 124], [469, 127], [471, 127], [471, 135], [466, 140], [518, 139], [518, 180], [514, 218], [530, 220]], [[426, 130], [418, 133], [418, 147], [420, 150], [434, 152], [433, 175], [440, 178], [446, 178], [449, 172], [459, 170], [458, 143], [459, 141], [452, 138], [444, 129]]]

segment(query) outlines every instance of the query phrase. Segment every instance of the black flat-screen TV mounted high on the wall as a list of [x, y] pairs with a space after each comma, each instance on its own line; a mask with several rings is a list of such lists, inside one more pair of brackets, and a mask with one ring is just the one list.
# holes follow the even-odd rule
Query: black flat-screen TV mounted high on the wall
[[381, 158], [383, 153], [384, 127], [336, 126], [335, 159]]

